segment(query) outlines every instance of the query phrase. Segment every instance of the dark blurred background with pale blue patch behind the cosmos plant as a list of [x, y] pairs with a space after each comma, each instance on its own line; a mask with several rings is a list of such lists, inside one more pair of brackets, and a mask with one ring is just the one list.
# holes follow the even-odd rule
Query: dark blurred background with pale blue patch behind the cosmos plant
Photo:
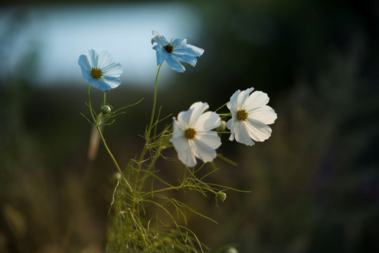
[[105, 129], [126, 164], [149, 121], [152, 30], [205, 49], [183, 74], [162, 68], [163, 115], [199, 100], [215, 110], [251, 86], [278, 114], [263, 143], [222, 137], [220, 153], [238, 166], [216, 160], [211, 180], [251, 193], [227, 191], [219, 207], [212, 196], [188, 198], [219, 222], [189, 217], [206, 245], [379, 252], [378, 1], [2, 2], [0, 252], [105, 252], [116, 169], [102, 147], [88, 160], [77, 59], [93, 48], [124, 65], [123, 83], [107, 93], [115, 108], [145, 98]]

